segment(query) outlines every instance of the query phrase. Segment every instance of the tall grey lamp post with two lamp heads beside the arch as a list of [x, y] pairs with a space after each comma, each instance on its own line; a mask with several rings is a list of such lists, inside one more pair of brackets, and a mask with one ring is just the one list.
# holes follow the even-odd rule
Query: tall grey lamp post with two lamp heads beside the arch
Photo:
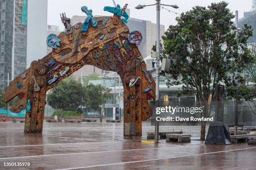
[[[177, 5], [165, 5], [160, 3], [161, 0], [156, 0], [156, 4], [152, 5], [137, 5], [135, 8], [140, 10], [147, 6], [153, 6], [156, 5], [156, 107], [158, 107], [159, 102], [159, 77], [160, 77], [160, 68], [159, 68], [159, 62], [160, 62], [160, 9], [161, 5], [163, 6], [170, 6], [175, 9], [179, 8]], [[156, 113], [155, 113], [156, 114]], [[155, 142], [158, 143], [159, 141], [159, 121], [156, 121], [155, 123]]]

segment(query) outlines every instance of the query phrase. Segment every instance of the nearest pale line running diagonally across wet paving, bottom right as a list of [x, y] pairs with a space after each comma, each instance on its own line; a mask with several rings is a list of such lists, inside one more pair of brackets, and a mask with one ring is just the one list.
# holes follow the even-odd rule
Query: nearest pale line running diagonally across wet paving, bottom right
[[82, 168], [95, 168], [95, 167], [103, 167], [103, 166], [111, 166], [111, 165], [123, 165], [123, 164], [129, 164], [129, 163], [141, 163], [141, 162], [148, 162], [148, 161], [154, 161], [154, 160], [184, 158], [184, 157], [190, 157], [190, 156], [200, 156], [200, 155], [207, 155], [207, 154], [212, 154], [212, 153], [224, 153], [224, 152], [232, 152], [232, 151], [247, 150], [247, 149], [254, 149], [254, 148], [256, 148], [256, 147], [242, 148], [242, 149], [235, 149], [235, 150], [223, 150], [223, 151], [217, 151], [217, 152], [211, 152], [211, 153], [200, 153], [200, 154], [195, 154], [195, 155], [186, 155], [186, 156], [179, 156], [179, 157], [156, 158], [156, 159], [150, 159], [150, 160], [135, 160], [135, 161], [129, 161], [129, 162], [109, 163], [109, 164], [92, 165], [92, 166], [76, 167], [76, 168], [64, 168], [64, 169], [55, 169], [55, 170], [75, 170], [75, 169], [82, 169]]

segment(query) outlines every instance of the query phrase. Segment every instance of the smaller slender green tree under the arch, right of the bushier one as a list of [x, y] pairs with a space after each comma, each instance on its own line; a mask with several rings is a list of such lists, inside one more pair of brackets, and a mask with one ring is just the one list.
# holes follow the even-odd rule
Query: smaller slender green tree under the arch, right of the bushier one
[[[102, 85], [93, 85], [90, 83], [86, 86], [86, 91], [88, 96], [86, 107], [94, 110], [94, 116], [95, 110], [98, 110], [100, 115], [100, 122], [102, 122], [105, 103], [108, 97], [110, 97], [111, 89]], [[102, 105], [102, 108], [100, 105]]]

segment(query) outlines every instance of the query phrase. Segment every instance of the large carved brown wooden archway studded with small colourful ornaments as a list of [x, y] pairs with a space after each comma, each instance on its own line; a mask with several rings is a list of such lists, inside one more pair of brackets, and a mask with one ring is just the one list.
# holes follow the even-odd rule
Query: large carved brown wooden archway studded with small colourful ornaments
[[136, 44], [129, 42], [129, 29], [118, 15], [93, 19], [97, 20], [97, 26], [89, 24], [85, 32], [81, 32], [82, 23], [74, 25], [72, 31], [65, 25], [69, 30], [61, 32], [53, 42], [56, 49], [31, 62], [8, 86], [5, 102], [17, 95], [20, 98], [10, 110], [14, 113], [27, 110], [24, 133], [42, 133], [47, 90], [84, 65], [94, 65], [120, 75], [124, 87], [124, 123], [136, 123], [136, 135], [141, 136], [142, 120], [152, 115], [147, 100], [155, 99], [154, 79], [146, 71]]

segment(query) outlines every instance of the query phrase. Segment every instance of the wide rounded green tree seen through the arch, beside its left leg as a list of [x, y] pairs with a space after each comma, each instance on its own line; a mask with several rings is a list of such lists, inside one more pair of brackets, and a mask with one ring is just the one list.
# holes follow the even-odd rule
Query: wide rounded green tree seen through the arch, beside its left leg
[[[47, 103], [56, 110], [79, 111], [85, 105], [87, 93], [81, 83], [70, 80], [62, 81], [47, 95]], [[82, 114], [80, 112], [80, 114]], [[60, 117], [63, 116], [63, 112]]]

